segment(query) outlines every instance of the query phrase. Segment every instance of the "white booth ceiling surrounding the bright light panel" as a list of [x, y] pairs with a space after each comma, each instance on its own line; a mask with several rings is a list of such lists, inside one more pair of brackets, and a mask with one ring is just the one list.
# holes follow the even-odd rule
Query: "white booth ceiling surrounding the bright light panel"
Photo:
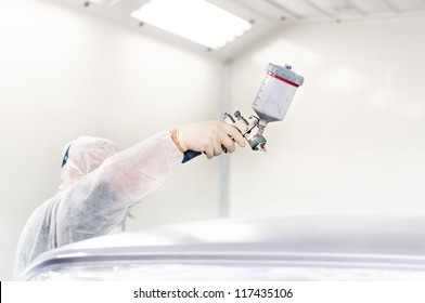
[[[147, 22], [134, 17], [134, 11], [152, 0], [50, 0], [62, 2], [83, 13], [94, 14], [123, 24], [145, 35], [184, 48], [207, 51], [230, 58], [261, 37], [294, 23], [359, 22], [425, 15], [425, 0], [206, 0], [250, 23], [242, 36], [218, 48], [203, 45], [181, 38]], [[166, 0], [155, 0], [166, 1]], [[186, 2], [189, 0], [170, 0]], [[205, 2], [205, 0], [195, 0]], [[171, 3], [170, 2], [170, 3]], [[190, 2], [190, 1], [189, 1]], [[188, 3], [189, 3], [188, 2]], [[192, 10], [188, 10], [192, 11]], [[169, 14], [169, 13], [168, 13]], [[179, 14], [176, 12], [176, 15]], [[182, 19], [186, 19], [182, 17]], [[189, 18], [188, 18], [189, 19]], [[220, 21], [217, 21], [217, 27]], [[196, 28], [196, 24], [190, 25]], [[172, 26], [171, 26], [172, 27]]]

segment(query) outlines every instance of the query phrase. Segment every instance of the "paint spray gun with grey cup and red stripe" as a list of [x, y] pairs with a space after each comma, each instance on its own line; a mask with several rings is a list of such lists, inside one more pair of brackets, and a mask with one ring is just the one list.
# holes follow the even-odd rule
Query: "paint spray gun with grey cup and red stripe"
[[[253, 109], [257, 116], [244, 118], [239, 110], [233, 116], [226, 113], [223, 120], [234, 126], [249, 143], [253, 150], [266, 150], [267, 140], [262, 135], [269, 122], [282, 121], [294, 98], [295, 92], [304, 83], [304, 77], [292, 70], [291, 65], [284, 67], [269, 63], [266, 78], [254, 100]], [[226, 150], [224, 150], [226, 152]], [[201, 153], [188, 150], [183, 163]]]

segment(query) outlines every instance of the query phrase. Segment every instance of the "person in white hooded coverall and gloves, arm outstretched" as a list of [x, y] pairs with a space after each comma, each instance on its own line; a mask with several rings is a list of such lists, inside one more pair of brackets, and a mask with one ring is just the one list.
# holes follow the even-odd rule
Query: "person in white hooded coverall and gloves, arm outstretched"
[[241, 133], [223, 121], [164, 131], [119, 152], [105, 139], [81, 136], [65, 146], [60, 190], [30, 215], [21, 234], [14, 275], [40, 253], [106, 235], [129, 208], [157, 189], [186, 150], [207, 158], [245, 146]]

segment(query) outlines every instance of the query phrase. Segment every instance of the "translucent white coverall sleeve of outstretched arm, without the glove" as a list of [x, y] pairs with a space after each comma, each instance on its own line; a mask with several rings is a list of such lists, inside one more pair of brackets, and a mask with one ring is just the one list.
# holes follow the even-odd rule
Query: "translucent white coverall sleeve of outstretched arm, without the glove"
[[182, 157], [170, 133], [160, 132], [108, 158], [64, 193], [57, 245], [108, 234], [130, 206], [164, 183]]

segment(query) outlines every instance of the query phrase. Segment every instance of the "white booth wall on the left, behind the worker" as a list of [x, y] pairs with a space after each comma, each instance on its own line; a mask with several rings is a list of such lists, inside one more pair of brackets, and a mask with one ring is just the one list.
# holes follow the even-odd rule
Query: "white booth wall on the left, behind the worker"
[[[2, 0], [0, 39], [4, 280], [27, 216], [56, 192], [63, 145], [89, 134], [125, 148], [159, 130], [217, 118], [221, 63], [54, 1]], [[197, 160], [179, 168], [133, 209], [129, 229], [218, 216], [219, 167]]]

